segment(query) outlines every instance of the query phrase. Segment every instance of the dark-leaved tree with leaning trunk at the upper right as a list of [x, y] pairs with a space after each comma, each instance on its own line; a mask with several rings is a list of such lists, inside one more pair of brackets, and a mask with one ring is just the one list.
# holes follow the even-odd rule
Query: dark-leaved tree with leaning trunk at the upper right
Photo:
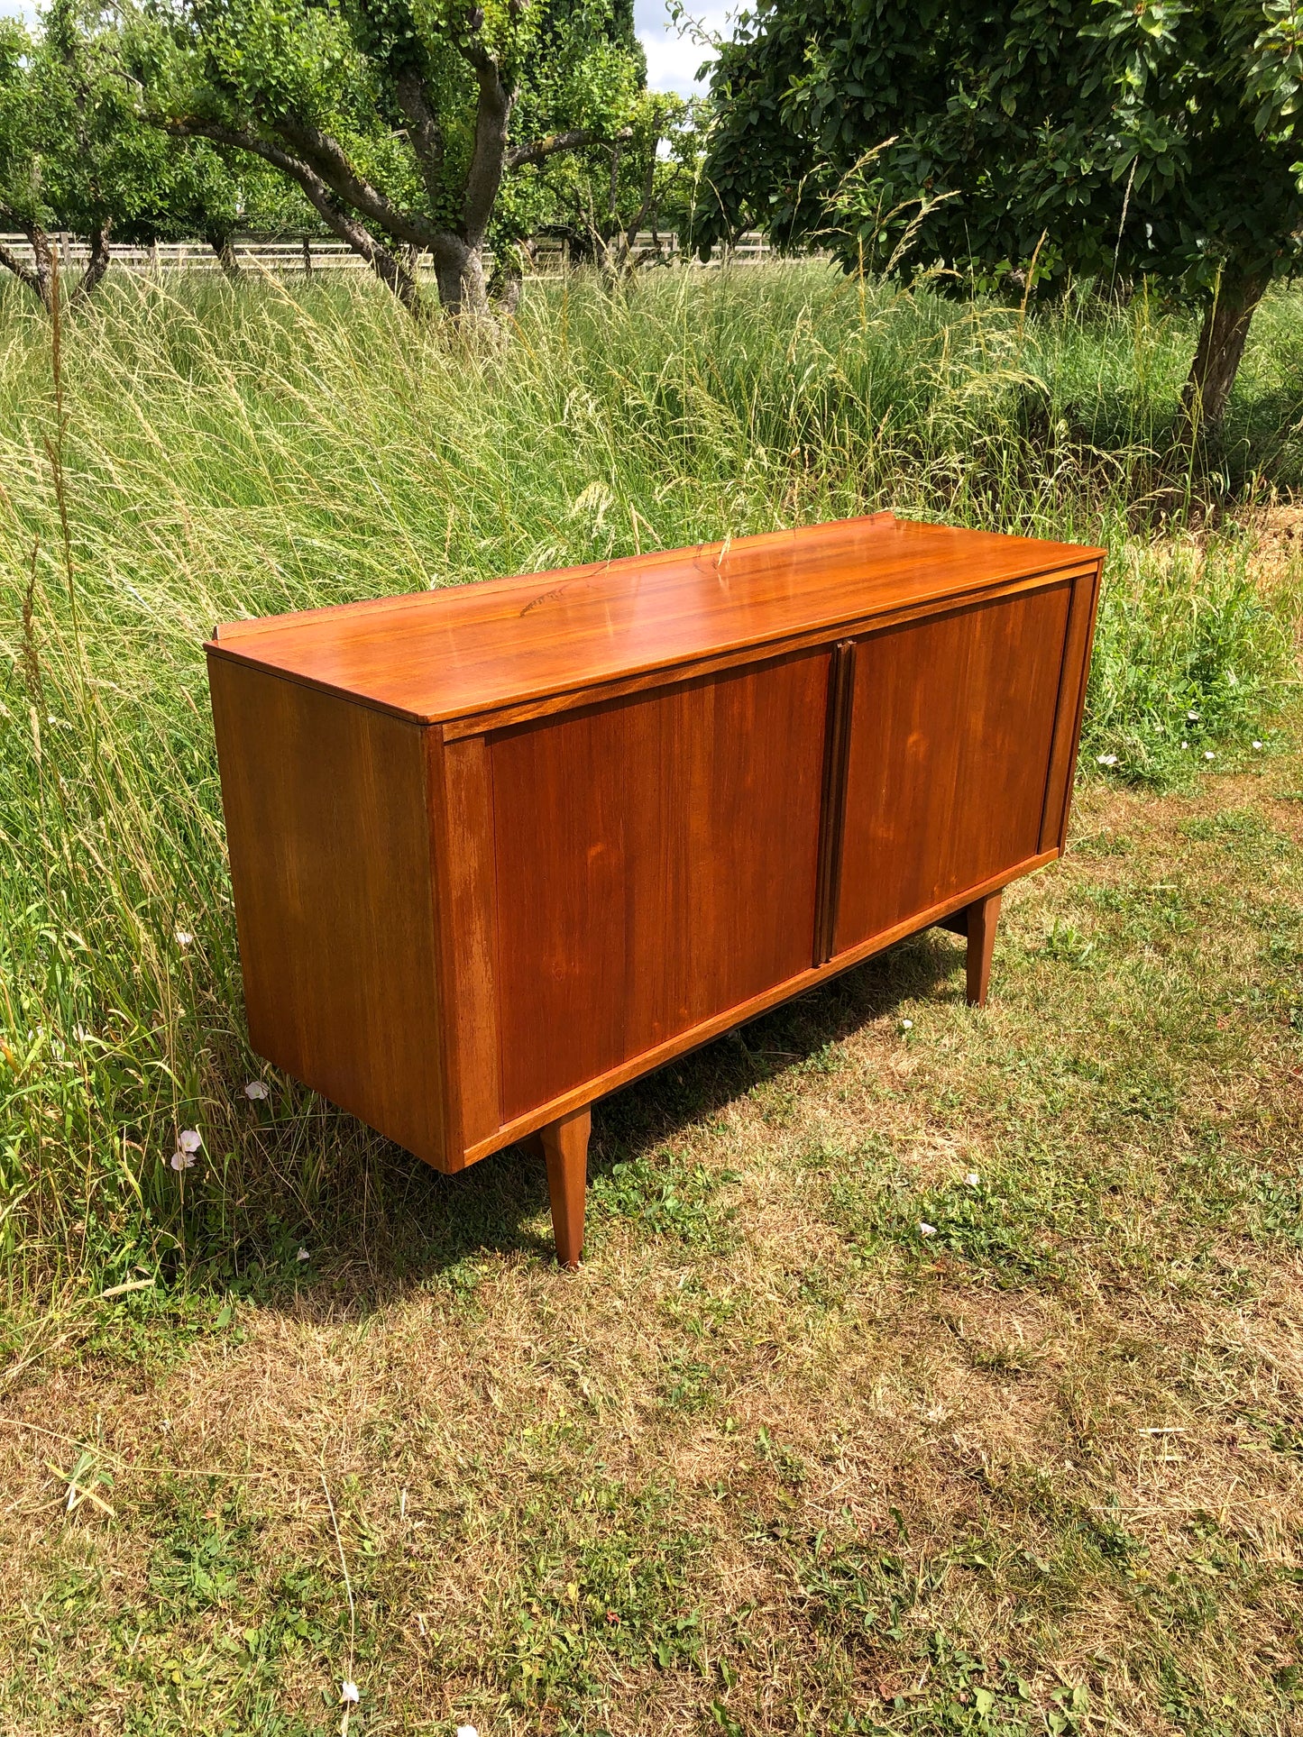
[[1204, 311], [1187, 438], [1303, 261], [1298, 0], [761, 0], [712, 96], [704, 247], [1161, 280]]

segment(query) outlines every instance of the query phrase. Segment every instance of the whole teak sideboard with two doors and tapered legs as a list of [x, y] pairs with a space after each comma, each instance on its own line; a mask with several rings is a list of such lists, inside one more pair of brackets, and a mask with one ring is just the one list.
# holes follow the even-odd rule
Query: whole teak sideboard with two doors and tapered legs
[[1063, 849], [1103, 551], [891, 512], [219, 627], [248, 1032], [441, 1171]]

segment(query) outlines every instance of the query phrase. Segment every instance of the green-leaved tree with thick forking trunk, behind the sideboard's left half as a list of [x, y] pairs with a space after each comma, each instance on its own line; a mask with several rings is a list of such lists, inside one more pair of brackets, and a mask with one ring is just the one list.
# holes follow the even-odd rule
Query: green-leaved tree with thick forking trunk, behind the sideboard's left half
[[165, 3], [134, 24], [146, 113], [294, 181], [413, 311], [424, 250], [446, 309], [485, 309], [504, 177], [613, 137], [641, 82], [608, 0]]

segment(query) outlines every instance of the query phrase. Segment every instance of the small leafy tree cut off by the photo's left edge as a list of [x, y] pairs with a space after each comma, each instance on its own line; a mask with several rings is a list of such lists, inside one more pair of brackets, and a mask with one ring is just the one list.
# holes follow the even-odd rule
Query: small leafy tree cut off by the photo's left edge
[[0, 243], [0, 266], [54, 307], [57, 261], [52, 231], [90, 241], [69, 301], [83, 301], [104, 276], [115, 219], [109, 160], [120, 144], [122, 92], [104, 82], [103, 42], [73, 0], [54, 0], [33, 36], [0, 19], [0, 224], [21, 231], [31, 264]]

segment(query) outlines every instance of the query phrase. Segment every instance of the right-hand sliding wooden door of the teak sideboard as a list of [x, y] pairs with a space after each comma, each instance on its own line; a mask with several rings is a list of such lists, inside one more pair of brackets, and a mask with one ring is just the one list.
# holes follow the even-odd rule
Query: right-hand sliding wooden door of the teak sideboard
[[1068, 594], [857, 643], [834, 954], [1037, 855]]

